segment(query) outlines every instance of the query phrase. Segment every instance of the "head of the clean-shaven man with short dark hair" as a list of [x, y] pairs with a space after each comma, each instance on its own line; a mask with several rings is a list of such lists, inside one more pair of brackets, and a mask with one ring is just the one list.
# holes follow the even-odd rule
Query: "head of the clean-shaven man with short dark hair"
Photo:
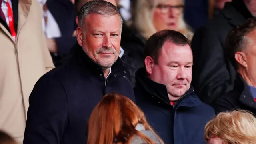
[[190, 41], [180, 32], [161, 30], [145, 46], [148, 77], [164, 84], [170, 101], [176, 101], [190, 88], [193, 54]]

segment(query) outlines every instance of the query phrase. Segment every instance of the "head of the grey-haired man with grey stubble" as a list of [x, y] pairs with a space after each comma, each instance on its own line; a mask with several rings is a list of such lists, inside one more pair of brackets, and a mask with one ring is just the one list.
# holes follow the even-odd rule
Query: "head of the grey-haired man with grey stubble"
[[104, 0], [92, 0], [82, 6], [78, 20], [78, 44], [106, 77], [120, 53], [123, 21], [118, 8]]

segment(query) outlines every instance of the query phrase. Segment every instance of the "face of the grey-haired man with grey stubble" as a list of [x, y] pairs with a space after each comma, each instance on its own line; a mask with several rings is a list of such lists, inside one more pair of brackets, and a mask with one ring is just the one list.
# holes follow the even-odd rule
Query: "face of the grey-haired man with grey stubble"
[[78, 28], [78, 44], [103, 69], [110, 68], [118, 58], [121, 41], [119, 15], [89, 14], [84, 18], [85, 35]]

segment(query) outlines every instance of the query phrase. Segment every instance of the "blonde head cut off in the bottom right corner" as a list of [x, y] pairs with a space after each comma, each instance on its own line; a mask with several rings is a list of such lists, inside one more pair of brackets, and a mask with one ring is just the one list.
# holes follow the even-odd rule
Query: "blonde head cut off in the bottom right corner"
[[208, 144], [256, 144], [256, 119], [245, 110], [221, 112], [205, 126]]

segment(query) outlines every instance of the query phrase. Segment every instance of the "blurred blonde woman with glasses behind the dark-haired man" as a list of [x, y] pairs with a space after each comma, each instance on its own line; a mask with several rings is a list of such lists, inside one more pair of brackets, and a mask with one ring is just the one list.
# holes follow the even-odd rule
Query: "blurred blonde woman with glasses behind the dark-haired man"
[[134, 28], [147, 40], [152, 34], [164, 30], [176, 30], [189, 40], [193, 33], [183, 18], [184, 0], [136, 0], [133, 3]]

